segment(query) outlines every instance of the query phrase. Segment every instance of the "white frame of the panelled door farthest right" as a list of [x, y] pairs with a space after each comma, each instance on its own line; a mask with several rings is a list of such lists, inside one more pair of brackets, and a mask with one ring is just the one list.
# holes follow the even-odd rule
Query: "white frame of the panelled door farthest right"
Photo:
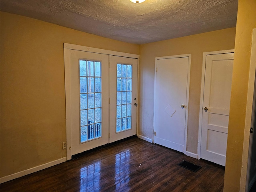
[[200, 110], [199, 110], [200, 113], [199, 113], [198, 146], [197, 146], [198, 159], [200, 159], [200, 155], [201, 155], [201, 136], [202, 136], [202, 120], [203, 120], [203, 116], [202, 116], [203, 111], [201, 109], [203, 109], [203, 101], [204, 101], [204, 76], [205, 76], [206, 56], [207, 55], [224, 54], [224, 53], [234, 53], [234, 49], [203, 53], [201, 96], [200, 96]]

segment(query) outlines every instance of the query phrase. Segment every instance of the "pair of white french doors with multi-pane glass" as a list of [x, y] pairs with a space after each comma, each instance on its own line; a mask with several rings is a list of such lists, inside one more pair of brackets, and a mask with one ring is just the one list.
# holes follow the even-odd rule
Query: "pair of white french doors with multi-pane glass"
[[67, 160], [135, 135], [138, 59], [65, 48], [64, 58]]

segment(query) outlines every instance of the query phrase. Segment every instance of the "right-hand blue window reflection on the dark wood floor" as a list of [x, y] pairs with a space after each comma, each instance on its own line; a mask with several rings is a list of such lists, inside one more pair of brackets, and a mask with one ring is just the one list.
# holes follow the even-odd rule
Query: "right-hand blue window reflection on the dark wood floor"
[[116, 154], [116, 165], [115, 165], [115, 185], [116, 190], [120, 187], [126, 186], [128, 190], [130, 180], [130, 151], [121, 152]]

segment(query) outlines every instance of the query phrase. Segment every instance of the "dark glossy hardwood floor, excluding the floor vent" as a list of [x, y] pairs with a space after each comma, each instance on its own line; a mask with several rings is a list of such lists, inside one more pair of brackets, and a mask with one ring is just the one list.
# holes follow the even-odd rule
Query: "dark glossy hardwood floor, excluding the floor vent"
[[[192, 172], [177, 164], [202, 166]], [[1, 192], [220, 192], [224, 168], [138, 138], [0, 184]]]

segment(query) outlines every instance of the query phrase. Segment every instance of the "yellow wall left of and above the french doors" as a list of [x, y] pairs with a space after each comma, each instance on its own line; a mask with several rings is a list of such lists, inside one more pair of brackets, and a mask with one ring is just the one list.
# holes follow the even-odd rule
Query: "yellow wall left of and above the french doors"
[[63, 43], [139, 46], [0, 12], [0, 178], [66, 156]]

